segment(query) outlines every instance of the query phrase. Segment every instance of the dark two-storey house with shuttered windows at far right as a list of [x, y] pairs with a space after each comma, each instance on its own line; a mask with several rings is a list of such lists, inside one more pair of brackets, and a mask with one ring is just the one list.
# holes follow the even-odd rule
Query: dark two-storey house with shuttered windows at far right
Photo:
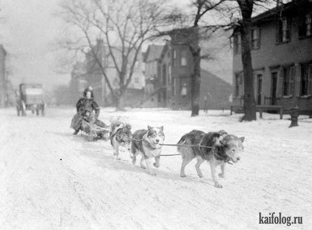
[[[312, 109], [312, 2], [292, 1], [252, 19], [256, 105]], [[241, 41], [234, 35], [233, 105], [243, 105]]]

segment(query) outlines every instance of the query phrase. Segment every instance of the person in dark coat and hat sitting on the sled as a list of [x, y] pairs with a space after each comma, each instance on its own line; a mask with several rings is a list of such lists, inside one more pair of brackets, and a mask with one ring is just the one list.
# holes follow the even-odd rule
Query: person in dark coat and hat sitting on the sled
[[80, 98], [76, 104], [77, 113], [72, 119], [71, 128], [75, 130], [74, 135], [78, 134], [81, 129], [81, 123], [83, 116], [85, 115], [85, 111], [88, 109], [95, 113], [95, 119], [98, 119], [99, 115], [99, 106], [94, 100], [93, 89], [91, 86], [86, 88], [83, 91], [83, 98]]

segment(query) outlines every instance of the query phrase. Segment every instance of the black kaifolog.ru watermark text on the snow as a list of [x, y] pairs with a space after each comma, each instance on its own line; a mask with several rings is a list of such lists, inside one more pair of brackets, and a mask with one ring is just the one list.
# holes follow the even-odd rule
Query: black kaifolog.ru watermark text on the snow
[[286, 224], [287, 226], [302, 224], [302, 216], [282, 216], [281, 212], [269, 213], [269, 216], [259, 212], [259, 224]]

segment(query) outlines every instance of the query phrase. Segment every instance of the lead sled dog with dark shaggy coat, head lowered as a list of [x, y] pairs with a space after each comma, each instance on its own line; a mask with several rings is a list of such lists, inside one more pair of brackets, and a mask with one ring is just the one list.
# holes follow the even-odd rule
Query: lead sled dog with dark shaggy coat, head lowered
[[[222, 188], [222, 186], [218, 183], [217, 177], [215, 175], [215, 168], [220, 165], [221, 173], [219, 174], [219, 177], [224, 177], [225, 164], [237, 163], [240, 160], [239, 154], [244, 149], [244, 139], [244, 137], [238, 138], [234, 135], [229, 135], [224, 130], [208, 133], [199, 130], [193, 130], [183, 135], [177, 143], [180, 145], [177, 147], [177, 150], [181, 153], [183, 159], [180, 176], [186, 176], [184, 172], [185, 166], [189, 164], [194, 158], [197, 158], [195, 168], [198, 176], [203, 177], [199, 167], [204, 161], [209, 161], [215, 187]], [[187, 145], [198, 146], [190, 147]], [[205, 146], [211, 146], [211, 148]]]

